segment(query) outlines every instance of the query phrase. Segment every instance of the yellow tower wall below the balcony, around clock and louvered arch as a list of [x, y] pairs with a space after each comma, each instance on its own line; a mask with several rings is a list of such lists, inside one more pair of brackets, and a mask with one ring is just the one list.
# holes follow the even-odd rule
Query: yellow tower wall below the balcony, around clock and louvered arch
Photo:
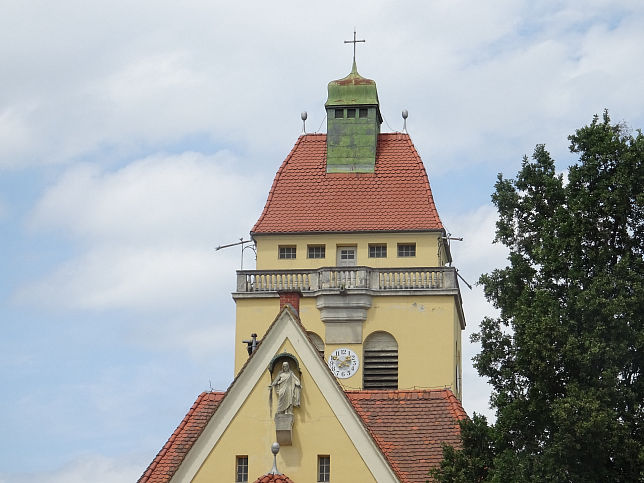
[[[238, 299], [236, 341], [252, 332], [259, 337], [279, 312], [279, 298]], [[300, 320], [307, 331], [325, 340], [315, 297], [300, 299]], [[456, 393], [456, 366], [460, 370], [460, 325], [455, 299], [450, 295], [374, 296], [363, 323], [362, 341], [373, 332], [385, 331], [398, 343], [398, 388], [451, 387]], [[352, 377], [340, 379], [345, 389], [362, 388], [362, 344], [329, 344], [325, 358], [339, 347], [352, 349], [360, 368]], [[235, 373], [248, 358], [243, 344], [235, 350]], [[460, 394], [459, 394], [460, 396]]]

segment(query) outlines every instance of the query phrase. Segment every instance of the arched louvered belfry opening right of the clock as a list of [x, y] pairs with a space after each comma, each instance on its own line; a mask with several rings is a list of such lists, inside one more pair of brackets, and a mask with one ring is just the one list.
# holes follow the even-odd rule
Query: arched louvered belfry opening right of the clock
[[364, 389], [398, 389], [398, 343], [387, 332], [374, 332], [364, 341]]

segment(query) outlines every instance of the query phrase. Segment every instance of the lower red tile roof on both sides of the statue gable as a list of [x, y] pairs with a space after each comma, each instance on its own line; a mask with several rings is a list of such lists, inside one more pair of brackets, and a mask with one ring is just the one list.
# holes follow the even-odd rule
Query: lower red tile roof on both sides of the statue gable
[[[170, 481], [224, 395], [204, 392], [197, 398], [139, 483]], [[347, 391], [346, 395], [403, 483], [427, 481], [430, 468], [442, 459], [441, 443], [460, 446], [458, 420], [467, 415], [449, 389]], [[262, 478], [256, 483], [282, 481]], [[284, 482], [291, 481], [282, 478]]]

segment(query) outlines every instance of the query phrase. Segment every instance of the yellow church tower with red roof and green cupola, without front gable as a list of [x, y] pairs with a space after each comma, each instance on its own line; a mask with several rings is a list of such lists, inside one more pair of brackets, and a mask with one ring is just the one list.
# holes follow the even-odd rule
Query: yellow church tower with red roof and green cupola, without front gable
[[275, 175], [237, 273], [239, 342], [293, 305], [345, 389], [450, 388], [465, 320], [446, 231], [406, 133], [381, 133], [376, 83], [328, 85], [327, 134], [303, 134]]

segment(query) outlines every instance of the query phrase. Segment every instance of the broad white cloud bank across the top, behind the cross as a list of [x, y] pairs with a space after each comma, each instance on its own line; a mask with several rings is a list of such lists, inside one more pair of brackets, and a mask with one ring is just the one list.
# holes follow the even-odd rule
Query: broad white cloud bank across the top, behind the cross
[[346, 38], [354, 25], [368, 42], [359, 66], [378, 81], [385, 117], [399, 128], [400, 109], [409, 108], [416, 142], [441, 159], [468, 151], [481, 156], [461, 163], [505, 159], [508, 142], [551, 142], [604, 107], [634, 121], [644, 111], [634, 95], [644, 75], [632, 61], [644, 42], [636, 2], [250, 10], [57, 2], [46, 10], [14, 7], [0, 20], [11, 40], [0, 58], [13, 73], [0, 93], [2, 122], [15, 134], [0, 143], [0, 165], [69, 162], [105, 146], [127, 152], [195, 133], [275, 153], [299, 132], [301, 110], [312, 129], [322, 121], [324, 86], [350, 64], [349, 47], [329, 39]]

